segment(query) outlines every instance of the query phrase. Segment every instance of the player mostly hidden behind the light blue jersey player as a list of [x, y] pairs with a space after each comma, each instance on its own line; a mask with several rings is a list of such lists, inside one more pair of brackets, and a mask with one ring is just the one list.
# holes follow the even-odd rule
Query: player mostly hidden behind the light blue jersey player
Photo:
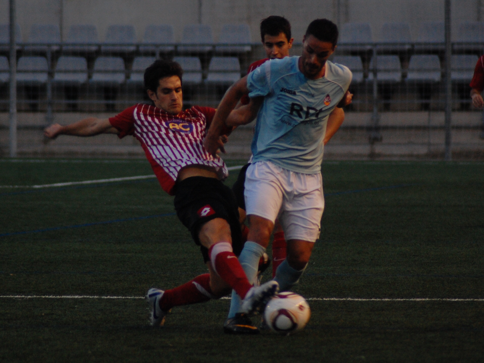
[[[262, 19], [260, 22], [260, 39], [262, 45], [264, 46], [264, 51], [266, 52], [267, 58], [261, 59], [259, 61], [253, 62], [248, 69], [247, 74], [255, 70], [258, 66], [269, 61], [271, 59], [280, 59], [289, 56], [289, 49], [292, 47], [294, 38], [291, 37], [291, 24], [289, 21], [278, 15], [271, 15]], [[248, 95], [243, 95], [240, 104], [236, 108], [242, 105], [248, 105], [250, 98]], [[251, 158], [252, 159], [252, 158]], [[239, 204], [239, 214], [242, 225], [242, 235], [243, 238], [247, 238], [248, 228], [243, 224], [245, 221], [245, 199], [243, 196], [244, 182], [245, 182], [245, 171], [250, 165], [249, 162], [244, 165], [239, 172], [237, 181], [235, 181], [232, 186], [232, 191], [237, 198], [237, 203]], [[276, 220], [274, 224], [274, 239], [272, 241], [272, 276], [275, 276], [275, 271], [277, 266], [284, 261], [286, 258], [286, 240], [284, 238], [284, 231], [281, 225]], [[232, 295], [235, 295], [233, 293]], [[234, 296], [232, 296], [234, 298]], [[236, 298], [236, 297], [235, 297]], [[235, 316], [234, 311], [230, 311], [228, 317], [233, 318]], [[237, 329], [237, 327], [235, 327]], [[245, 329], [243, 326], [240, 329]]]

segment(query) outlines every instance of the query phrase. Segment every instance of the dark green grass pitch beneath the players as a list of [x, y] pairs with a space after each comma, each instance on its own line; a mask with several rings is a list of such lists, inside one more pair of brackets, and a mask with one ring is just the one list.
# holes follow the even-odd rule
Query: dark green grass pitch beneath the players
[[[4, 159], [0, 167], [0, 185], [152, 173], [144, 160]], [[323, 179], [321, 237], [296, 292], [484, 299], [483, 163], [325, 162]], [[205, 266], [174, 215], [70, 227], [172, 212], [154, 179], [0, 188], [0, 295], [141, 297], [184, 283]], [[15, 234], [54, 227], [69, 228]], [[227, 336], [227, 299], [174, 308], [152, 329], [142, 299], [2, 297], [0, 361], [484, 361], [484, 301], [309, 304], [300, 333]]]

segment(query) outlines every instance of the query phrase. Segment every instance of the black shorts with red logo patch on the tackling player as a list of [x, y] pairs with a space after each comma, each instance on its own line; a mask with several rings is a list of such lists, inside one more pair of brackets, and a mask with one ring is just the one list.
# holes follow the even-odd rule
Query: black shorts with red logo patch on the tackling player
[[239, 209], [234, 194], [222, 181], [215, 178], [190, 177], [175, 186], [175, 211], [183, 226], [192, 233], [200, 246], [204, 262], [210, 261], [208, 249], [200, 244], [198, 232], [208, 221], [223, 218], [230, 226], [232, 249], [236, 256], [242, 251], [242, 232]]

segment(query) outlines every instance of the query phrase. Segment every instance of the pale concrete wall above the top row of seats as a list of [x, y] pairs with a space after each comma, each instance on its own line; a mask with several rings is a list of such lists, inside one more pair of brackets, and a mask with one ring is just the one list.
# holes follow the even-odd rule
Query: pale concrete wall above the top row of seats
[[[463, 21], [484, 20], [484, 0], [452, 1], [453, 28]], [[64, 36], [73, 24], [94, 24], [104, 40], [110, 24], [133, 24], [141, 40], [148, 24], [171, 24], [175, 39], [183, 27], [198, 23], [212, 27], [215, 40], [223, 24], [246, 23], [258, 42], [258, 26], [268, 15], [290, 20], [296, 41], [318, 17], [345, 22], [368, 22], [378, 40], [384, 22], [407, 22], [415, 39], [423, 21], [443, 21], [443, 0], [16, 0], [17, 21], [27, 41], [30, 26], [61, 24]], [[0, 0], [0, 23], [9, 21], [9, 1]]]

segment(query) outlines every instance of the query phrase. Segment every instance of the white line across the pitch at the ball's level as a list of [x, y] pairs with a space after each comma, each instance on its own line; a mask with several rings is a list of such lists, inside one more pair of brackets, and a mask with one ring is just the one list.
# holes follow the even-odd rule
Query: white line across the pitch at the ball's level
[[[144, 299], [144, 296], [97, 296], [97, 295], [1, 295], [1, 299]], [[228, 296], [221, 298], [230, 300]], [[408, 299], [358, 299], [358, 298], [307, 298], [308, 301], [360, 301], [360, 302], [484, 302], [484, 299], [408, 298]]]

